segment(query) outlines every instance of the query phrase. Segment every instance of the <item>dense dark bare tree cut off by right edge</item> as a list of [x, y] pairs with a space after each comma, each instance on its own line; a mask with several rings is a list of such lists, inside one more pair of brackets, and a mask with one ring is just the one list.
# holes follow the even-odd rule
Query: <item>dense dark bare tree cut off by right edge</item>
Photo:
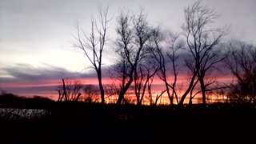
[[246, 42], [230, 42], [226, 64], [236, 78], [230, 84], [231, 102], [256, 102], [256, 47]]

